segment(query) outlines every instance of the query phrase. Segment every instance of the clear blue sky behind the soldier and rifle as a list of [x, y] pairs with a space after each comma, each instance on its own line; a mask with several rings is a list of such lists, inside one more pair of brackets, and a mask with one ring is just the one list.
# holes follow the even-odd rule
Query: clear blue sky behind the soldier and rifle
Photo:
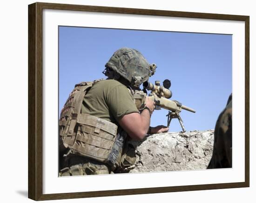
[[[214, 129], [232, 92], [232, 36], [222, 34], [59, 27], [59, 110], [74, 84], [106, 78], [112, 54], [134, 48], [156, 63], [149, 82], [171, 80], [171, 100], [194, 108], [182, 110], [187, 131]], [[155, 110], [151, 126], [166, 125], [168, 110]], [[181, 131], [177, 119], [170, 132]]]

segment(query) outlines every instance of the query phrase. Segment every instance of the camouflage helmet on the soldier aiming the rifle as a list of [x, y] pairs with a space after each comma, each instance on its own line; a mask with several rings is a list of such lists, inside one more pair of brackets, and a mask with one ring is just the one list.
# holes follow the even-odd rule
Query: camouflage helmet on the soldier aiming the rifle
[[115, 73], [124, 77], [130, 86], [139, 88], [141, 83], [146, 82], [148, 78], [155, 73], [156, 65], [150, 65], [142, 54], [127, 47], [123, 47], [113, 54], [105, 65], [103, 73], [108, 76], [108, 70], [114, 70]]

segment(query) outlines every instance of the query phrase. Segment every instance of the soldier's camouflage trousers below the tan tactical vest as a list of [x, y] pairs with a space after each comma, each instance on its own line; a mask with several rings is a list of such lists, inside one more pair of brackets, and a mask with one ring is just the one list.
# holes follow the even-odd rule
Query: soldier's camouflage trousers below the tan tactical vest
[[66, 167], [60, 170], [59, 176], [82, 176], [113, 173], [108, 165], [79, 156], [72, 157], [64, 162], [66, 162], [64, 163]]

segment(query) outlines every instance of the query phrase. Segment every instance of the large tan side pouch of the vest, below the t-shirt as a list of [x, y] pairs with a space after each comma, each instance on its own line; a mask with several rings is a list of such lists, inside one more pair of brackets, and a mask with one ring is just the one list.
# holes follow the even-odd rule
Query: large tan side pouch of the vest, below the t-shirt
[[89, 114], [78, 114], [75, 128], [76, 136], [70, 152], [107, 163], [115, 142], [117, 126]]

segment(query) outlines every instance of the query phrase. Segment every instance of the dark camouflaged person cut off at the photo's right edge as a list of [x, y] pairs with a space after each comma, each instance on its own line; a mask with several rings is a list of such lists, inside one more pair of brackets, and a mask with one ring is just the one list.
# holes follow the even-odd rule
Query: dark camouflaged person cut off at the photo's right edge
[[213, 155], [208, 169], [232, 167], [232, 94], [219, 115], [214, 131]]

